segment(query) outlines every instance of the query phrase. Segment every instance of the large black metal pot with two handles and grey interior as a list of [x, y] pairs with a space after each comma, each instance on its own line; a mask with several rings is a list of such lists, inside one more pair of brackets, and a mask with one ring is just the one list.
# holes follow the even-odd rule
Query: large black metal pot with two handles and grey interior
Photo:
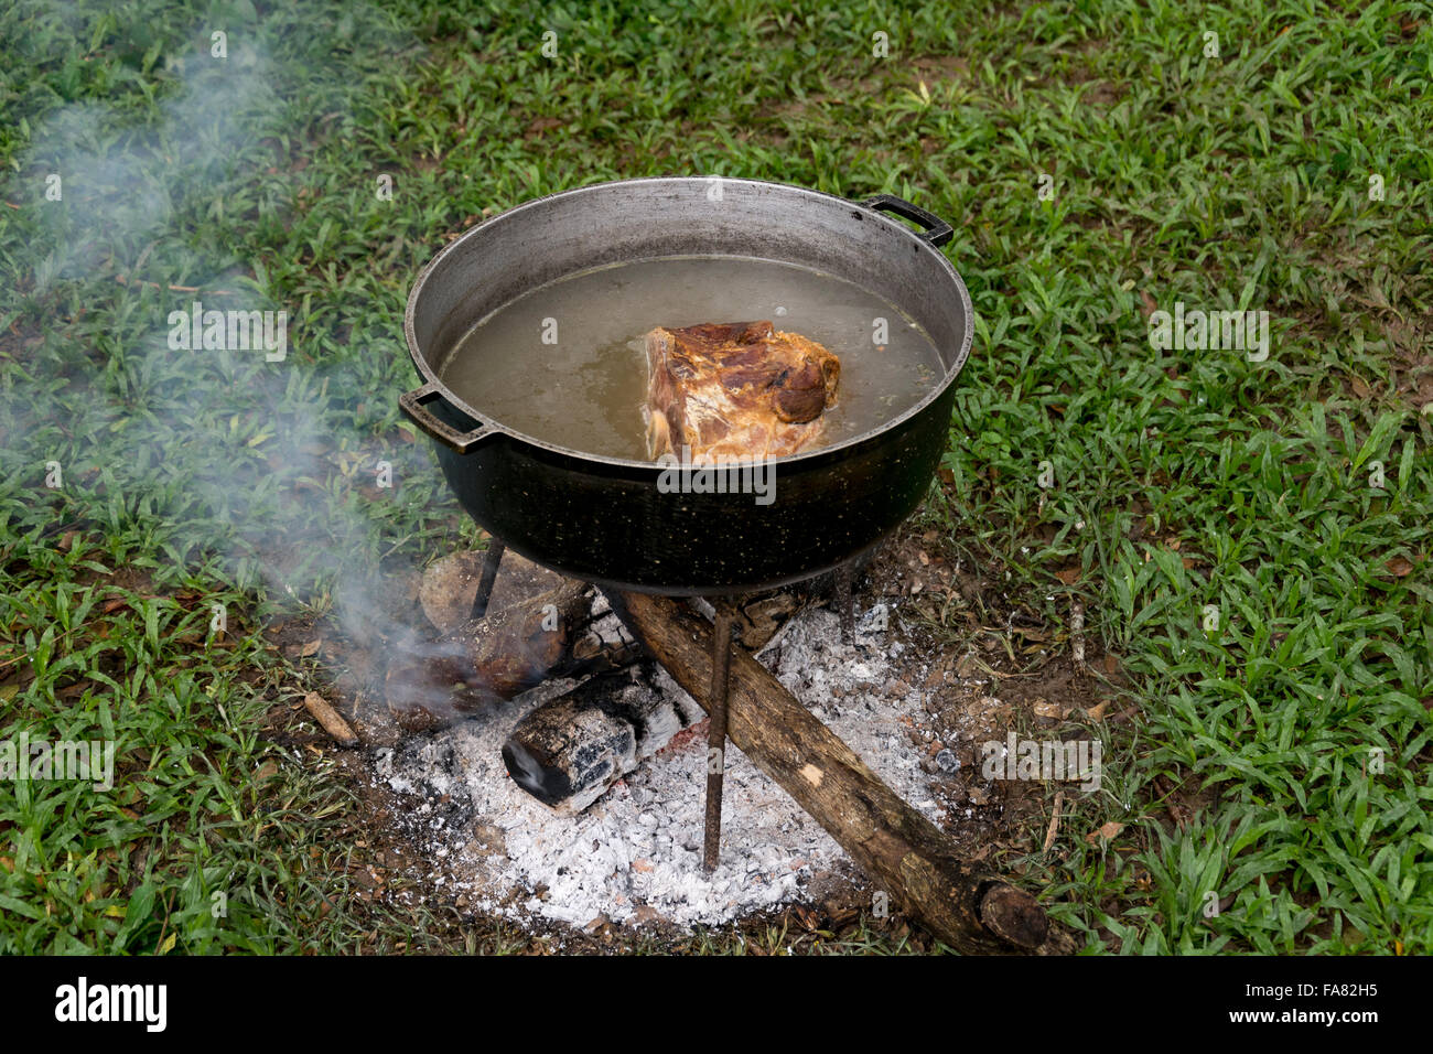
[[[418, 275], [404, 333], [426, 383], [398, 402], [438, 442], [463, 508], [529, 559], [599, 585], [678, 595], [807, 578], [893, 531], [934, 475], [972, 336], [970, 295], [936, 248], [950, 235], [888, 195], [857, 204], [752, 179], [631, 179], [539, 198], [469, 231]], [[767, 505], [662, 492], [661, 466], [520, 435], [438, 380], [456, 341], [520, 294], [590, 267], [676, 254], [758, 257], [853, 281], [926, 330], [944, 377], [876, 430], [778, 459]]]

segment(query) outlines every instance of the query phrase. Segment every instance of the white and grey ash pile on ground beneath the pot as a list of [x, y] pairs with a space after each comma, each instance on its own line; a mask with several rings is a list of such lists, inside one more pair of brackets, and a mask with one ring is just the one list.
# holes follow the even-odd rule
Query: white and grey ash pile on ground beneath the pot
[[[857, 644], [837, 615], [797, 614], [758, 658], [914, 807], [940, 820], [937, 779], [920, 733], [924, 673], [894, 634], [864, 614]], [[514, 921], [586, 925], [722, 924], [802, 896], [813, 879], [851, 869], [845, 852], [802, 809], [729, 749], [721, 866], [702, 862], [706, 724], [681, 733], [577, 816], [543, 806], [509, 777], [502, 744], [529, 710], [562, 694], [553, 681], [502, 710], [374, 754], [378, 780], [403, 797], [408, 837], [427, 882], [460, 908]], [[696, 704], [659, 671], [662, 691]], [[921, 739], [924, 736], [924, 740]], [[956, 763], [946, 753], [947, 767]], [[964, 812], [964, 810], [962, 810]]]

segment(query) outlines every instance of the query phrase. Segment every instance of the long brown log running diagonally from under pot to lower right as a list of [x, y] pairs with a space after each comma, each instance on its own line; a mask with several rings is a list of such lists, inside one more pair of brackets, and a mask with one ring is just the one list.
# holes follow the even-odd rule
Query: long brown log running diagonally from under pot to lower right
[[[674, 599], [609, 594], [613, 608], [704, 708], [712, 627]], [[966, 954], [1068, 951], [1045, 911], [962, 860], [941, 830], [887, 787], [757, 660], [731, 655], [728, 736], [825, 827], [877, 886]]]

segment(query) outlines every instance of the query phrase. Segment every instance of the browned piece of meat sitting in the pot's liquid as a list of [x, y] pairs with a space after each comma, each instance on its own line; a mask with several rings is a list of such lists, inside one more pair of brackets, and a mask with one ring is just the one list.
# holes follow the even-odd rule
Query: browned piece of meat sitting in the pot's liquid
[[840, 360], [770, 321], [646, 334], [648, 456], [780, 457], [821, 435]]

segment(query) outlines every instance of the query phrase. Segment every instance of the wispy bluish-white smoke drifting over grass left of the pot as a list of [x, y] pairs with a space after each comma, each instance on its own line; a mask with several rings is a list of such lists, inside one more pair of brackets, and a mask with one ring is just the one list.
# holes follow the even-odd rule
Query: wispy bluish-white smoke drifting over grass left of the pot
[[[341, 305], [284, 303], [245, 252], [265, 244], [265, 209], [291, 208], [277, 145], [334, 106], [285, 98], [287, 69], [258, 40], [229, 32], [216, 57], [201, 26], [162, 60], [158, 108], [113, 92], [32, 122], [0, 186], [20, 205], [0, 218], [0, 261], [16, 268], [16, 311], [0, 310], [0, 488], [34, 523], [148, 531], [242, 588], [331, 602], [377, 645], [408, 631], [387, 614], [403, 608], [390, 558], [460, 513], [397, 427], [397, 394], [416, 384], [401, 303], [381, 313], [391, 326], [347, 331]], [[216, 346], [172, 347], [172, 313], [201, 300], [285, 313], [288, 354], [234, 347], [232, 327]], [[47, 462], [63, 466], [52, 493]]]

